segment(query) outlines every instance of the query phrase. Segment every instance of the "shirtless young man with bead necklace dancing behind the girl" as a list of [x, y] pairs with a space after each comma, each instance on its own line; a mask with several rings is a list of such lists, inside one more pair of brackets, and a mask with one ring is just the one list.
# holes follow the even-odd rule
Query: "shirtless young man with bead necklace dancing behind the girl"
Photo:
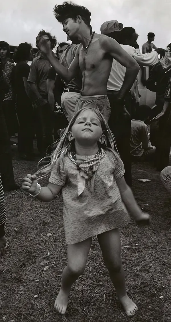
[[42, 37], [39, 48], [46, 55], [57, 74], [66, 82], [71, 81], [79, 68], [82, 72], [81, 99], [75, 111], [89, 106], [98, 108], [106, 121], [110, 116], [110, 104], [107, 98], [107, 82], [112, 67], [113, 58], [127, 68], [123, 85], [118, 94], [122, 101], [127, 91], [132, 87], [139, 66], [125, 52], [119, 43], [106, 35], [92, 33], [90, 26], [90, 11], [83, 6], [64, 2], [54, 7], [56, 19], [62, 23], [63, 31], [70, 37], [77, 37], [81, 43], [74, 60], [67, 69], [54, 58], [50, 49], [48, 37]]

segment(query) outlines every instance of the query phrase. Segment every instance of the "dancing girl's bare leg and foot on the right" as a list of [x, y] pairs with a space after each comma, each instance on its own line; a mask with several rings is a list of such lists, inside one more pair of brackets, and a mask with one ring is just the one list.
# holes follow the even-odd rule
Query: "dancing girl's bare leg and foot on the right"
[[116, 289], [127, 316], [133, 316], [138, 310], [136, 304], [126, 292], [125, 273], [121, 261], [121, 243], [119, 230], [114, 229], [97, 236], [102, 251], [104, 263], [109, 270], [110, 279]]

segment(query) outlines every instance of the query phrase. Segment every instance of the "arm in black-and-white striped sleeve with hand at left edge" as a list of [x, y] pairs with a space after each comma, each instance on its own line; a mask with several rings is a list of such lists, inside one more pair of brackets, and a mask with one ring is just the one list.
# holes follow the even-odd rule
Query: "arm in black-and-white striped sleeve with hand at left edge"
[[5, 254], [6, 238], [5, 238], [5, 220], [6, 220], [6, 205], [4, 200], [4, 190], [0, 174], [0, 255]]

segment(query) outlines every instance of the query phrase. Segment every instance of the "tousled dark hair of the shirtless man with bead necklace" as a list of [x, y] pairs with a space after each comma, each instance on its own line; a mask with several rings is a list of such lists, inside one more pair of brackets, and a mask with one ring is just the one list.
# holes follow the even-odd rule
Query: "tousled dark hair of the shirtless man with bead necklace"
[[90, 11], [82, 5], [76, 5], [74, 2], [65, 1], [62, 5], [55, 5], [53, 8], [53, 13], [55, 18], [63, 24], [63, 21], [67, 18], [75, 19], [78, 15], [81, 16], [82, 20], [91, 29], [91, 13]]

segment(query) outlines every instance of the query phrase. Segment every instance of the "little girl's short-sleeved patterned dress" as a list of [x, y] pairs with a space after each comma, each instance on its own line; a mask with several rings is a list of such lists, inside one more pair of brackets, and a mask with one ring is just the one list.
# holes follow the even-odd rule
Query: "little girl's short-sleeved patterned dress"
[[[86, 160], [87, 156], [84, 158]], [[117, 153], [113, 156], [112, 152], [106, 151], [95, 173], [93, 191], [86, 182], [81, 195], [78, 195], [77, 166], [67, 155], [64, 157], [65, 171], [60, 165], [60, 175], [57, 166], [58, 163], [53, 166], [49, 182], [62, 186], [67, 244], [81, 242], [130, 222], [116, 183], [116, 179], [124, 175], [124, 166]]]

